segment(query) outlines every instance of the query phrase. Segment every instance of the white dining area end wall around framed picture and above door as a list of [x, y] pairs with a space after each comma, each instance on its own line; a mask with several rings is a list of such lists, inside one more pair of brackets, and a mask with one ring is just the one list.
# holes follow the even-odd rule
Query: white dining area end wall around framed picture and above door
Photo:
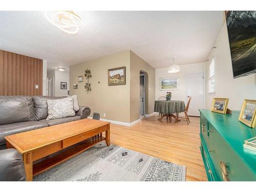
[[159, 78], [179, 77], [179, 90], [172, 92], [172, 100], [183, 100], [186, 102], [186, 74], [191, 72], [205, 72], [206, 62], [181, 65], [179, 73], [168, 73], [168, 68], [156, 69], [156, 100], [165, 96], [167, 91], [160, 91]]

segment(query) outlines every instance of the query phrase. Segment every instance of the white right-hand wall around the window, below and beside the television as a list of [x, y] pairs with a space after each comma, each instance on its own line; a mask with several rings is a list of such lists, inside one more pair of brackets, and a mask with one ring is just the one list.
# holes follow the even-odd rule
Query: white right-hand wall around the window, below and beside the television
[[234, 79], [229, 49], [226, 22], [224, 23], [215, 45], [208, 55], [209, 61], [215, 57], [215, 94], [208, 94], [208, 68], [206, 82], [206, 106], [210, 109], [213, 98], [229, 98], [230, 110], [241, 110], [244, 99], [256, 99], [256, 74]]

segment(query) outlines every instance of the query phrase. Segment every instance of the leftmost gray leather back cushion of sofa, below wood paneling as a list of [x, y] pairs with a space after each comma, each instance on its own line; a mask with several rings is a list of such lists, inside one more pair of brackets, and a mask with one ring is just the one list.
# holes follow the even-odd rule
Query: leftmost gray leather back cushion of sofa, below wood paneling
[[0, 125], [35, 120], [30, 96], [0, 96], [0, 109]]

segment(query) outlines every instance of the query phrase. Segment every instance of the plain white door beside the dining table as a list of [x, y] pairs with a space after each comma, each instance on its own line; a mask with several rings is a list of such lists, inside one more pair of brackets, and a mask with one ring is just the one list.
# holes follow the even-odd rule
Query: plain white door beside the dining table
[[204, 109], [204, 72], [186, 74], [187, 100], [191, 97], [188, 115], [200, 116], [199, 109]]

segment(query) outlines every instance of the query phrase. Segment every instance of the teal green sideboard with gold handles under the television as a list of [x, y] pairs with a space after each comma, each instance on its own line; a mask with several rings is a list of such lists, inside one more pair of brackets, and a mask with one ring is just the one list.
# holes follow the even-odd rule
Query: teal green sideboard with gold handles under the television
[[199, 111], [200, 149], [208, 180], [256, 181], [256, 152], [243, 148], [244, 140], [256, 136], [256, 129], [238, 121], [240, 111]]

